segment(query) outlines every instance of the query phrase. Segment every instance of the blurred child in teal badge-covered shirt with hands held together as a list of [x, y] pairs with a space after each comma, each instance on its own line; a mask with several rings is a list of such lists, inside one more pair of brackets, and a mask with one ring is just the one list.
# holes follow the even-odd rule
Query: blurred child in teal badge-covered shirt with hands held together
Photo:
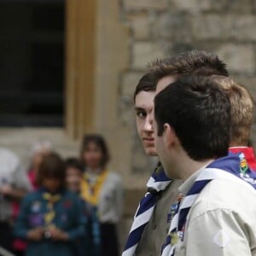
[[44, 157], [37, 191], [22, 201], [15, 236], [28, 241], [26, 256], [75, 256], [74, 241], [84, 236], [79, 197], [65, 189], [65, 165], [58, 154]]

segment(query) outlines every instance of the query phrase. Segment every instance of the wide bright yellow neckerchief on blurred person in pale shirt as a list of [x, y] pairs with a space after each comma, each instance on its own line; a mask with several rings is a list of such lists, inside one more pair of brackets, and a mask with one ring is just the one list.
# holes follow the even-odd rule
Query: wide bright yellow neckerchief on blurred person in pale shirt
[[103, 171], [96, 177], [94, 182], [90, 182], [90, 177], [87, 172], [84, 172], [83, 181], [81, 183], [81, 194], [85, 201], [92, 206], [97, 206], [102, 187], [108, 177], [108, 171]]

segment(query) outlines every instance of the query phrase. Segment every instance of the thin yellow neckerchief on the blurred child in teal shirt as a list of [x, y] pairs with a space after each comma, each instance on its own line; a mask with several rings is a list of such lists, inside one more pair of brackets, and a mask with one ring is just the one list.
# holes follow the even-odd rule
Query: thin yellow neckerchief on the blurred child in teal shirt
[[60, 194], [52, 195], [48, 192], [44, 192], [43, 198], [47, 201], [47, 212], [44, 214], [44, 224], [46, 228], [54, 227], [53, 221], [55, 218], [54, 205], [57, 201], [61, 200]]

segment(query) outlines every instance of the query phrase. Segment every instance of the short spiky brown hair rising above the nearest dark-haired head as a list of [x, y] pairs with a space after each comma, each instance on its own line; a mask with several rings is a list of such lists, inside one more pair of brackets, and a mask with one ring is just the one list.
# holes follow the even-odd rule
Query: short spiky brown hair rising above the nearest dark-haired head
[[177, 78], [186, 74], [229, 75], [226, 64], [219, 60], [218, 55], [195, 49], [170, 58], [153, 61], [149, 63], [148, 68], [156, 82], [168, 75], [177, 75]]

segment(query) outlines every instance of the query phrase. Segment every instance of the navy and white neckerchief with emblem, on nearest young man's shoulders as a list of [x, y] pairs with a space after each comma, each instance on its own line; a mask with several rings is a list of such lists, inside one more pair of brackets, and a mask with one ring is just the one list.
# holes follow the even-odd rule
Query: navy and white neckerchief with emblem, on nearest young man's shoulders
[[213, 179], [237, 180], [237, 177], [256, 189], [256, 173], [251, 172], [248, 168], [244, 154], [230, 154], [229, 156], [215, 160], [200, 173], [187, 195], [183, 198], [180, 206], [177, 207], [166, 238], [166, 243], [162, 247], [162, 256], [173, 256], [175, 254], [175, 244], [179, 239], [183, 240], [183, 232], [189, 210], [207, 183]]

